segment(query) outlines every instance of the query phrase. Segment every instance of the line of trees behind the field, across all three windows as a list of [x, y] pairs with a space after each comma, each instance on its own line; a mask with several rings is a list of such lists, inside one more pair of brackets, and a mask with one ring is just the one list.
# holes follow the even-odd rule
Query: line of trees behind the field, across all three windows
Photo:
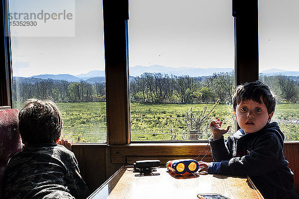
[[[260, 76], [278, 101], [297, 102], [299, 81], [289, 76]], [[67, 82], [60, 80], [13, 81], [15, 101], [29, 98], [49, 99], [56, 102], [105, 101], [105, 83]], [[130, 79], [132, 102], [140, 103], [221, 103], [232, 102], [234, 73], [215, 73], [207, 77], [172, 76], [144, 73]]]

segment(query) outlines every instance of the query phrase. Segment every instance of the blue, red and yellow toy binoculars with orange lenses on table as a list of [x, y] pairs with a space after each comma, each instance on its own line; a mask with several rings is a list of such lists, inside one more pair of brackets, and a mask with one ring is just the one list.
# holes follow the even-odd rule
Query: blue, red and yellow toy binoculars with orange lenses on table
[[170, 160], [166, 163], [166, 168], [175, 174], [188, 176], [198, 171], [199, 164], [193, 159]]

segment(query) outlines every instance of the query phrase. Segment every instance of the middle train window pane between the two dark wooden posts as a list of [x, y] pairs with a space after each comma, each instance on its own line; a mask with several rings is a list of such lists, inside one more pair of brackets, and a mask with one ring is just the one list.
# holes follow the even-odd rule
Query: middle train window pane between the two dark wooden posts
[[234, 132], [231, 0], [129, 3], [132, 141], [206, 140], [216, 117]]

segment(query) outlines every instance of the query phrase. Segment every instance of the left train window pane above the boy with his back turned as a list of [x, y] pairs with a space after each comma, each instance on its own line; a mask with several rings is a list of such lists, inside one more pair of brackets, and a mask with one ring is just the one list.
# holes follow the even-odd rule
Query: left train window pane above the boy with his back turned
[[14, 107], [51, 99], [72, 142], [107, 142], [99, 0], [9, 0]]

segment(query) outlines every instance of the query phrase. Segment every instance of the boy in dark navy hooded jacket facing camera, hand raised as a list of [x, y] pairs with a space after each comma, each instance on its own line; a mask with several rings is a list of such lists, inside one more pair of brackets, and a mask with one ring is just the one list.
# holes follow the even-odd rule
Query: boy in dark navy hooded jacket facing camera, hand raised
[[214, 162], [199, 162], [211, 174], [249, 175], [265, 199], [299, 199], [294, 175], [284, 157], [284, 134], [271, 118], [276, 100], [260, 81], [236, 88], [233, 111], [241, 127], [224, 141], [227, 128], [213, 120], [210, 140]]

